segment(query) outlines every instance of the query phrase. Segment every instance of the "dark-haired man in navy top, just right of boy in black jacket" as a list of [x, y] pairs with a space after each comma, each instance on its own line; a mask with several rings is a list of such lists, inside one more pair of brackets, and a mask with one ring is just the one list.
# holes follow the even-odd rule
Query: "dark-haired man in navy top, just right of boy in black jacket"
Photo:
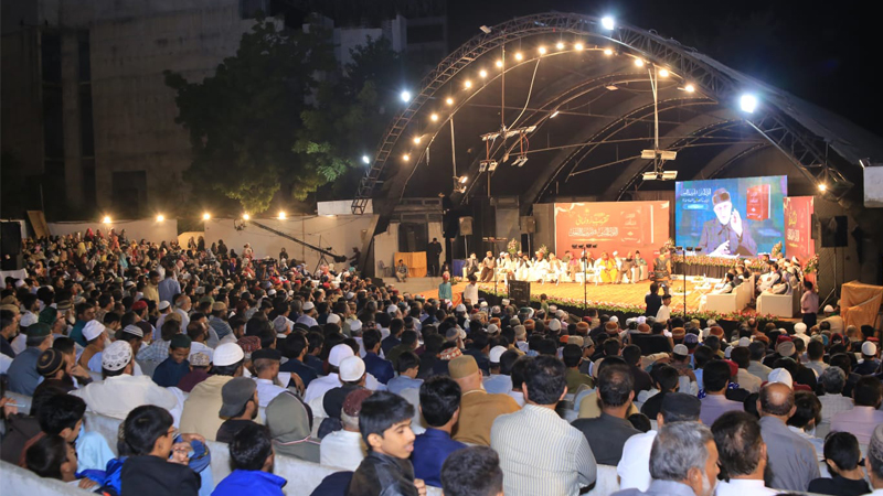
[[442, 487], [442, 465], [448, 455], [466, 448], [450, 439], [460, 417], [460, 386], [447, 376], [435, 376], [421, 386], [421, 412], [429, 425], [414, 440], [414, 477], [426, 485]]

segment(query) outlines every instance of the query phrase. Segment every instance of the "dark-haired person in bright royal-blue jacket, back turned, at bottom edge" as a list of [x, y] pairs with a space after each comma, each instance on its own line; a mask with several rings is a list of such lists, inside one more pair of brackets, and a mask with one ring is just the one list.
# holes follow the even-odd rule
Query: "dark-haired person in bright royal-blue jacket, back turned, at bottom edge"
[[274, 457], [267, 428], [245, 425], [230, 443], [233, 472], [217, 484], [212, 496], [283, 496], [288, 481], [273, 474]]

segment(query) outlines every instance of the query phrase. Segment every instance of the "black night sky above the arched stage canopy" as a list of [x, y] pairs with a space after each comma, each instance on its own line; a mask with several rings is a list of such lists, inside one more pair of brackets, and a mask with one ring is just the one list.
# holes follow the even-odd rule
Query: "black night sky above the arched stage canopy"
[[656, 30], [883, 137], [881, 26], [859, 2], [449, 0], [450, 50], [481, 24], [547, 11], [610, 14]]

